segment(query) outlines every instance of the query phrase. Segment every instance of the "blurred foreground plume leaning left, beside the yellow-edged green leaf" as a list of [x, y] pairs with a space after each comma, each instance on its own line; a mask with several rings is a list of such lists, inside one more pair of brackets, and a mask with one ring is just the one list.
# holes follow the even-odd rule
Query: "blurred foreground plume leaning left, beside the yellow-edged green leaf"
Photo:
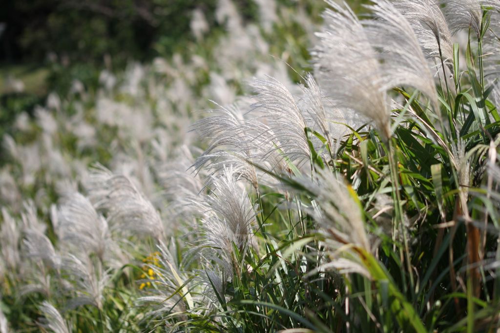
[[325, 236], [330, 261], [321, 269], [335, 268], [342, 273], [357, 272], [369, 277], [359, 252], [355, 250], [372, 251], [354, 192], [329, 169], [319, 170], [312, 180], [296, 180], [313, 195], [313, 206], [316, 206], [313, 216], [319, 231]]

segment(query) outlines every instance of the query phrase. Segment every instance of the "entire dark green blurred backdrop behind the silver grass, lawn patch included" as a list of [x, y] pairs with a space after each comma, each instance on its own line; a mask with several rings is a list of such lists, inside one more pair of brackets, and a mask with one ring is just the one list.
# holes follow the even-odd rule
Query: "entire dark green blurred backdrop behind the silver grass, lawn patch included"
[[[351, 0], [354, 9], [363, 0]], [[301, 6], [317, 19], [322, 0], [279, 0], [284, 7]], [[150, 61], [172, 54], [209, 58], [211, 46], [224, 33], [215, 17], [216, 0], [2, 0], [0, 1], [0, 137], [21, 111], [32, 115], [49, 92], [66, 95], [75, 80], [94, 90], [102, 69], [122, 70], [130, 61]], [[252, 0], [235, 0], [245, 22], [258, 20]], [[196, 40], [190, 21], [201, 10], [208, 33]], [[271, 51], [295, 42], [290, 67], [307, 69], [304, 31], [280, 22], [268, 34]], [[276, 40], [275, 36], [278, 36]], [[301, 38], [301, 36], [303, 36]], [[274, 54], [271, 54], [274, 55]], [[299, 77], [296, 75], [296, 79]]]

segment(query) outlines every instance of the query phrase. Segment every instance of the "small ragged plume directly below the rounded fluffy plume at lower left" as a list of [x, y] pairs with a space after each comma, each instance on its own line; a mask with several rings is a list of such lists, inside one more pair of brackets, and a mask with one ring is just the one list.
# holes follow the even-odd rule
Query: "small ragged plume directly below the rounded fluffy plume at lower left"
[[102, 293], [111, 276], [107, 270], [103, 270], [100, 261], [93, 262], [87, 255], [78, 258], [68, 254], [62, 263], [62, 268], [69, 274], [67, 280], [74, 284], [77, 294], [69, 301], [68, 306], [73, 308], [90, 304], [101, 309]]

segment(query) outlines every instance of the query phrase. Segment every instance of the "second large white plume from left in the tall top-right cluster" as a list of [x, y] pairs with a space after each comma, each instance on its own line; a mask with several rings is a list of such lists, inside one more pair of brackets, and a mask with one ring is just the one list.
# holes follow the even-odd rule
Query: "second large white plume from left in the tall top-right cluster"
[[387, 0], [369, 5], [374, 17], [364, 20], [370, 44], [379, 50], [381, 88], [412, 86], [423, 92], [438, 111], [434, 79], [408, 20]]

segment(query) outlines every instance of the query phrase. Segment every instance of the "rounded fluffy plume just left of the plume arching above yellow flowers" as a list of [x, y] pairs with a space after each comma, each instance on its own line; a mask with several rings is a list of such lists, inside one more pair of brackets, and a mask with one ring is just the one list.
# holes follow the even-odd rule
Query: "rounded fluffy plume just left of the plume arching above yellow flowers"
[[90, 200], [78, 192], [67, 193], [57, 210], [57, 233], [63, 243], [104, 258], [111, 242], [106, 219], [98, 214]]

